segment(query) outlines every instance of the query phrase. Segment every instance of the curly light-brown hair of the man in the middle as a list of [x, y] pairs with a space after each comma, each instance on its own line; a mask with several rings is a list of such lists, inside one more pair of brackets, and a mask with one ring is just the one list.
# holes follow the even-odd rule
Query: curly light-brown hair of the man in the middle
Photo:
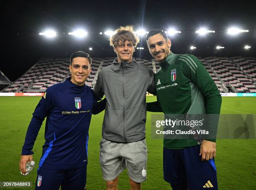
[[133, 42], [133, 46], [137, 46], [140, 42], [140, 38], [135, 34], [133, 25], [121, 26], [114, 31], [114, 34], [110, 36], [110, 46], [116, 48], [119, 41], [124, 43], [125, 41]]

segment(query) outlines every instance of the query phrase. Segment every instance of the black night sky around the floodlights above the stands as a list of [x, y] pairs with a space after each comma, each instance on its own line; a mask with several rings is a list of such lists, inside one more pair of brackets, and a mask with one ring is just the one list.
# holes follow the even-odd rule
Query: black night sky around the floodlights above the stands
[[[174, 53], [192, 53], [196, 56], [256, 56], [256, 11], [253, 1], [10, 1], [1, 4], [2, 63], [0, 70], [14, 81], [40, 58], [67, 58], [82, 50], [92, 57], [115, 57], [108, 38], [99, 35], [106, 29], [132, 24], [135, 28], [176, 27], [182, 33], [171, 38]], [[215, 30], [206, 37], [195, 31], [202, 27]], [[226, 34], [231, 26], [250, 30], [238, 36]], [[82, 27], [88, 31], [83, 40], [67, 35]], [[38, 33], [52, 28], [58, 33], [46, 39]], [[244, 45], [251, 49], [245, 51]], [[197, 49], [190, 51], [190, 46]], [[217, 45], [225, 49], [216, 51]], [[134, 56], [151, 58], [144, 38]], [[93, 50], [89, 51], [88, 48]]]

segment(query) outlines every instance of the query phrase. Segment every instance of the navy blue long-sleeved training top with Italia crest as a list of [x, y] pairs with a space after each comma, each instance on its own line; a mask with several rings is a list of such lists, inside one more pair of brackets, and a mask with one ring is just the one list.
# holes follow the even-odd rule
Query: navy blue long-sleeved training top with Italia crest
[[39, 101], [28, 126], [21, 155], [33, 154], [33, 145], [46, 117], [46, 140], [39, 168], [71, 169], [87, 164], [88, 131], [92, 114], [105, 109], [89, 86], [70, 81], [49, 87]]

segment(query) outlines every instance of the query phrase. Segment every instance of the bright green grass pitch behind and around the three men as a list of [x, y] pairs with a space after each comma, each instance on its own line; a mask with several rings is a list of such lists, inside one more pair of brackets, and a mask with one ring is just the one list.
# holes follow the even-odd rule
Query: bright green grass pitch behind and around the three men
[[[19, 160], [26, 130], [39, 99], [40, 97], [0, 97], [0, 181], [30, 181], [33, 184], [31, 189], [34, 189], [36, 170], [28, 176], [20, 175]], [[155, 100], [156, 97], [147, 97], [147, 101]], [[256, 114], [256, 98], [223, 97], [221, 113]], [[105, 189], [99, 164], [103, 114], [104, 112], [92, 116], [90, 125], [87, 190]], [[170, 185], [163, 180], [162, 140], [151, 139], [151, 114], [147, 112], [147, 180], [143, 182], [142, 188], [144, 190], [170, 190]], [[44, 144], [44, 124], [45, 122], [33, 148], [36, 167], [38, 167]], [[215, 162], [220, 190], [256, 190], [256, 139], [218, 139]], [[119, 190], [130, 189], [126, 170], [119, 177], [118, 188]]]

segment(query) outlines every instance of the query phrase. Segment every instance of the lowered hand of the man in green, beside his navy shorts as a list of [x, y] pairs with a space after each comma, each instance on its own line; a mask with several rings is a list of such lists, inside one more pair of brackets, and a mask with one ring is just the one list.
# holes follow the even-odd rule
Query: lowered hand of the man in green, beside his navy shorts
[[202, 161], [208, 161], [214, 158], [216, 156], [216, 143], [203, 140], [199, 155], [202, 155]]

